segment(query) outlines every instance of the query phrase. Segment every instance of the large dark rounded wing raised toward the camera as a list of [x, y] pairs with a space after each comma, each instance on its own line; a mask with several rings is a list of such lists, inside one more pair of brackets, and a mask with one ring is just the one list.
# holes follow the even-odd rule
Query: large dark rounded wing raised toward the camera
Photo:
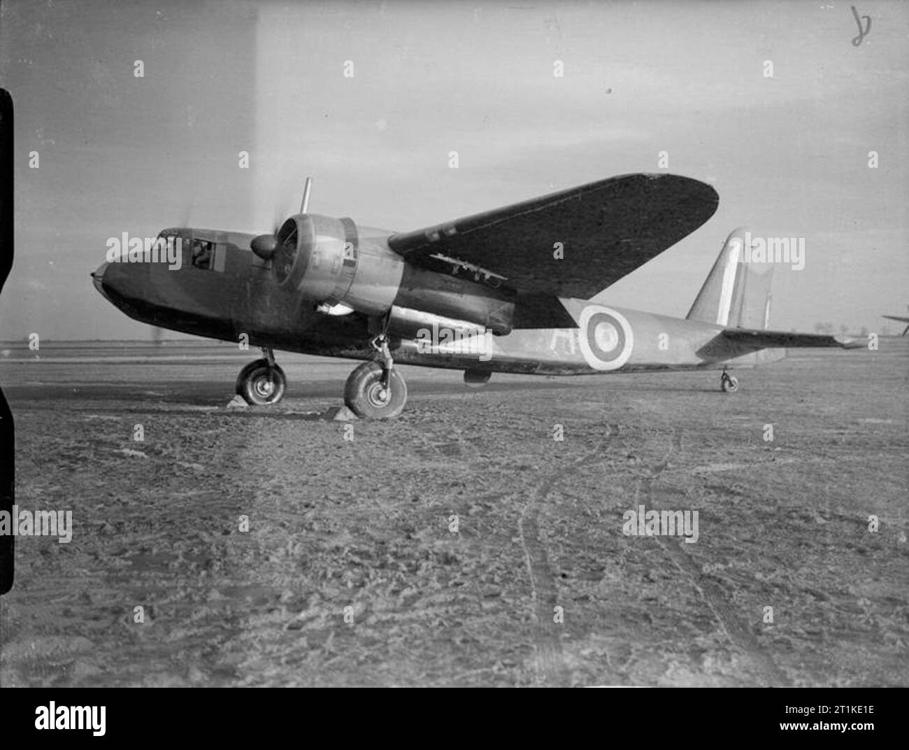
[[622, 175], [392, 235], [388, 244], [413, 265], [450, 267], [441, 255], [520, 292], [587, 299], [690, 235], [718, 203], [713, 187], [688, 177]]

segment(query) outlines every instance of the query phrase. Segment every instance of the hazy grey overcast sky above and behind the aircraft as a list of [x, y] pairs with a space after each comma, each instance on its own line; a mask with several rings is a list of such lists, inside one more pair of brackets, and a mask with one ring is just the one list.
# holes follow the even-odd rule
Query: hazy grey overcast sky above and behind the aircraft
[[305, 175], [311, 211], [408, 230], [661, 171], [661, 151], [720, 207], [613, 304], [684, 316], [748, 225], [805, 238], [804, 270], [776, 270], [772, 327], [880, 331], [909, 304], [909, 5], [856, 9], [861, 45], [850, 5], [823, 0], [4, 2], [16, 257], [0, 339], [146, 338], [91, 285], [106, 239], [269, 231]]

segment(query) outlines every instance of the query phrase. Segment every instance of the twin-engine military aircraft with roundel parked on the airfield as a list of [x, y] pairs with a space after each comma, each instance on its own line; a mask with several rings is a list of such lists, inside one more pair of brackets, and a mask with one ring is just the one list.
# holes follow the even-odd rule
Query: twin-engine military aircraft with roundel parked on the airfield
[[[356, 415], [400, 414], [396, 363], [492, 373], [586, 375], [714, 368], [784, 356], [789, 346], [848, 346], [830, 335], [767, 330], [773, 264], [725, 242], [684, 319], [602, 305], [594, 295], [703, 225], [719, 196], [677, 175], [623, 175], [413, 232], [301, 212], [276, 234], [165, 229], [182, 263], [117, 258], [92, 276], [144, 323], [263, 349], [237, 393], [285, 394], [274, 351], [367, 360], [345, 386]], [[141, 255], [141, 254], [136, 254]]]

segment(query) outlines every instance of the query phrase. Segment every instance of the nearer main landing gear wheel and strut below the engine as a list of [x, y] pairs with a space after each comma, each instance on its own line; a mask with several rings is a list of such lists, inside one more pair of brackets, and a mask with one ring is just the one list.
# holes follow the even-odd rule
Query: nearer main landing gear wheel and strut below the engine
[[347, 378], [344, 401], [357, 416], [388, 419], [401, 414], [407, 403], [407, 384], [395, 370], [388, 349], [387, 326], [370, 339], [369, 345], [378, 353], [378, 361], [365, 362]]

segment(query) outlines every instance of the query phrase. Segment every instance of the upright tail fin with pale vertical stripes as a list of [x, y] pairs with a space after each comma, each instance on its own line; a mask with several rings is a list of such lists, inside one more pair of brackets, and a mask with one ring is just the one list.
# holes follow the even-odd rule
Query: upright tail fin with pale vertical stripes
[[723, 250], [694, 299], [688, 320], [724, 328], [759, 328], [770, 325], [770, 285], [774, 265], [745, 263], [746, 230], [739, 227], [726, 238]]

